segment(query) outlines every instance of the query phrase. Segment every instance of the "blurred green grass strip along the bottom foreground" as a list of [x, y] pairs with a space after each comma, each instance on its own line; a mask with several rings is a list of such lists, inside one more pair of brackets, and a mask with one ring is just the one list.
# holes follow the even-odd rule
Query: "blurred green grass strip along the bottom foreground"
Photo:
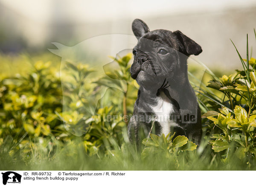
[[[31, 149], [23, 156], [1, 153], [1, 170], [255, 170], [235, 156], [221, 161], [220, 154], [212, 153], [208, 145], [200, 147], [200, 152], [182, 152], [165, 157], [162, 154], [142, 159], [129, 144], [108, 154], [90, 157], [84, 151], [82, 137], [76, 137], [65, 145], [54, 145], [54, 153]], [[35, 144], [37, 148], [41, 144]]]

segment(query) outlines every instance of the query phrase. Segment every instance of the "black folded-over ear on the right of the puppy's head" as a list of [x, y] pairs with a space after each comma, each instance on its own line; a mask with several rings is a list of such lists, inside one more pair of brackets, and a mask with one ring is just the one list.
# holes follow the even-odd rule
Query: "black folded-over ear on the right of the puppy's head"
[[179, 30], [173, 32], [178, 40], [180, 41], [180, 52], [182, 52], [185, 55], [198, 55], [203, 50], [199, 44], [197, 44], [195, 41], [184, 35]]

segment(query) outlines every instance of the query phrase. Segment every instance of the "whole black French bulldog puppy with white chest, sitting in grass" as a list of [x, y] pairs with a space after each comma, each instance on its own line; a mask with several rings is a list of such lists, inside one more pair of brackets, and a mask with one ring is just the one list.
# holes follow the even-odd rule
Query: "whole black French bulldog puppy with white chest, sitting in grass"
[[201, 110], [189, 83], [186, 60], [200, 54], [201, 46], [180, 31], [150, 32], [140, 19], [133, 21], [132, 30], [138, 43], [130, 71], [140, 89], [128, 124], [130, 141], [139, 145], [140, 131], [145, 136], [154, 131], [165, 136], [175, 132], [200, 143]]

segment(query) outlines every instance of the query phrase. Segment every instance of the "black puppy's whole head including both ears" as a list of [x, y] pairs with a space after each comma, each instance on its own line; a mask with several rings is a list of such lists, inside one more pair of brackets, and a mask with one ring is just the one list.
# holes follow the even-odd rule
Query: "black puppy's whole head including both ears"
[[[149, 31], [140, 19], [132, 23], [132, 30], [138, 39], [133, 49], [134, 62], [131, 77], [141, 86], [156, 86], [164, 78], [175, 78], [186, 73], [186, 58], [202, 52], [201, 46], [180, 31]], [[185, 59], [185, 60], [184, 60]]]

